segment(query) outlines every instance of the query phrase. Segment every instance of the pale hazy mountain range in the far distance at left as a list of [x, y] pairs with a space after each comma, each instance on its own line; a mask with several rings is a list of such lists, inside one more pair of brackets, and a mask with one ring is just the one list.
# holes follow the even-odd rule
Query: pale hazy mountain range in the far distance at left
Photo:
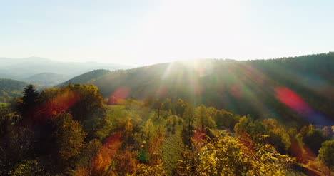
[[134, 66], [112, 63], [59, 62], [48, 58], [0, 58], [0, 78], [9, 78], [42, 85], [56, 85], [69, 78], [95, 69], [118, 70]]

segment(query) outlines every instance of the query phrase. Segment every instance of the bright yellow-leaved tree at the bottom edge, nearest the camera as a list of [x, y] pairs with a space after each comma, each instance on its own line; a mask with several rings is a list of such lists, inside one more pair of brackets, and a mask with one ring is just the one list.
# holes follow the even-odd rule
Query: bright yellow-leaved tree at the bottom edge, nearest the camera
[[249, 136], [217, 135], [183, 153], [176, 175], [285, 175], [295, 160], [273, 145], [253, 143]]

